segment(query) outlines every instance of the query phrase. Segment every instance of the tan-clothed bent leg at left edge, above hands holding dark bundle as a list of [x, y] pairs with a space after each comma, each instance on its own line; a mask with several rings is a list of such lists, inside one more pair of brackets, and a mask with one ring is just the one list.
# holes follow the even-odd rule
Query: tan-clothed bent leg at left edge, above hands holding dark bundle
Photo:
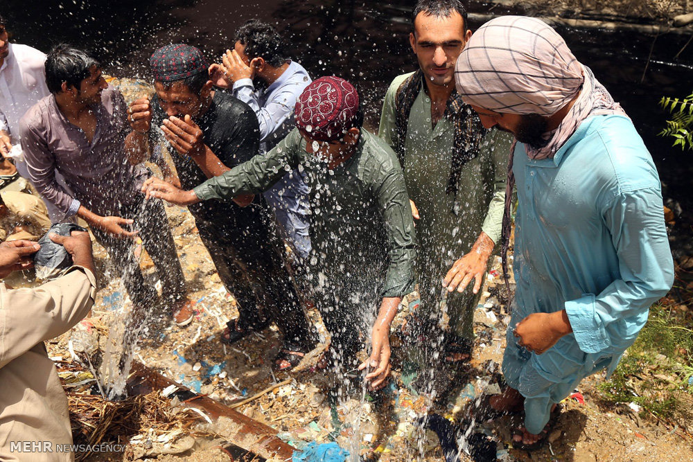
[[18, 191], [0, 193], [0, 240], [39, 240], [50, 227], [39, 197]]

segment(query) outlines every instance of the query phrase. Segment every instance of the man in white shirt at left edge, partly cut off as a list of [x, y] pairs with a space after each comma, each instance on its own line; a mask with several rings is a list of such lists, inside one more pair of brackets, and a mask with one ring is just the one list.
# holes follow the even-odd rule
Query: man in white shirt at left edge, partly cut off
[[[24, 155], [19, 148], [19, 119], [38, 100], [51, 94], [46, 87], [45, 61], [46, 55], [36, 48], [10, 44], [6, 21], [0, 15], [0, 154], [5, 158], [5, 168], [0, 166], [0, 175], [14, 170], [6, 160], [12, 157], [19, 175], [26, 179], [29, 177]], [[15, 148], [12, 149], [12, 146]], [[62, 175], [56, 179], [61, 186], [65, 186]], [[53, 204], [45, 200], [44, 203], [52, 222], [69, 220]]]

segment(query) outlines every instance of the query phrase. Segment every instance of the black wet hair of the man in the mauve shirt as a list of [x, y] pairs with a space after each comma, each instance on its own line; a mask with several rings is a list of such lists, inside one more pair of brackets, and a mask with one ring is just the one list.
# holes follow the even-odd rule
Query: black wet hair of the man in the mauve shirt
[[64, 44], [55, 46], [46, 56], [46, 86], [52, 94], [62, 91], [62, 82], [79, 90], [94, 66], [101, 64], [86, 51]]

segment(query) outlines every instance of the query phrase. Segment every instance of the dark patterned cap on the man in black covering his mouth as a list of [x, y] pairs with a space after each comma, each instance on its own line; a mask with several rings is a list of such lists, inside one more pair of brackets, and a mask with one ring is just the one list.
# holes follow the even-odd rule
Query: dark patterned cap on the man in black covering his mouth
[[149, 64], [157, 82], [175, 82], [209, 69], [200, 48], [184, 44], [162, 46], [152, 53]]

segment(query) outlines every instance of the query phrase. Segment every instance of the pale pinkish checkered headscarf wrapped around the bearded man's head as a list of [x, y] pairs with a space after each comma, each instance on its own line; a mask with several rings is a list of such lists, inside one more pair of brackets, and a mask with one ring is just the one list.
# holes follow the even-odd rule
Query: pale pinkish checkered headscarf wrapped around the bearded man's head
[[[530, 17], [498, 17], [481, 26], [457, 58], [455, 84], [465, 103], [500, 114], [551, 116], [575, 99], [559, 127], [546, 134], [546, 145], [525, 145], [529, 159], [554, 157], [588, 116], [626, 115], [565, 40]], [[506, 285], [516, 143], [510, 149], [501, 238]]]

